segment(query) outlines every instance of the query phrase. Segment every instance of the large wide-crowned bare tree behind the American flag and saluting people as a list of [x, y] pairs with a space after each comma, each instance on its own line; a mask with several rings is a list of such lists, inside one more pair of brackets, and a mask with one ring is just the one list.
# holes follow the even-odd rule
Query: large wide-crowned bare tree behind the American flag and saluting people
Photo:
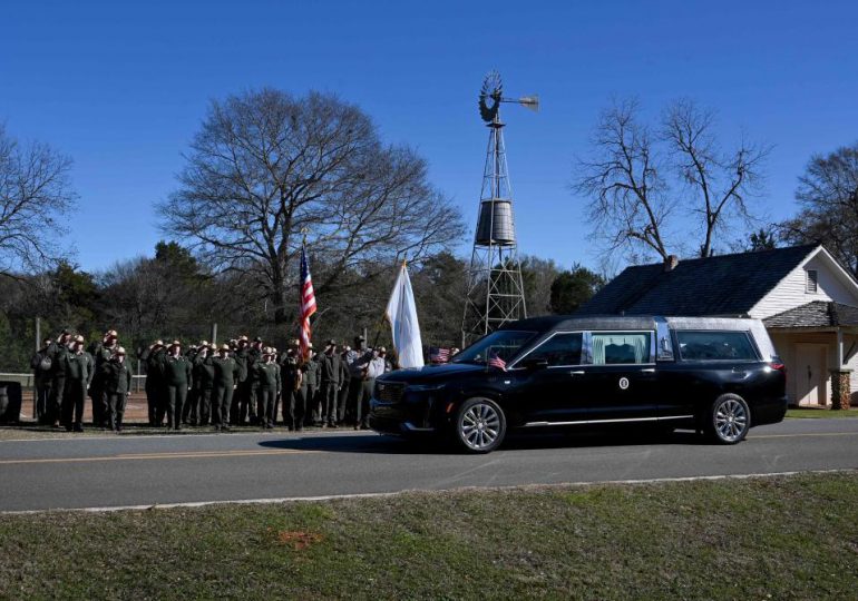
[[323, 257], [318, 295], [347, 285], [345, 269], [372, 277], [461, 233], [425, 160], [383, 146], [370, 118], [334, 96], [266, 88], [214, 101], [186, 159], [158, 207], [163, 230], [215, 272], [248, 276], [277, 323], [294, 313], [287, 289], [304, 231]]

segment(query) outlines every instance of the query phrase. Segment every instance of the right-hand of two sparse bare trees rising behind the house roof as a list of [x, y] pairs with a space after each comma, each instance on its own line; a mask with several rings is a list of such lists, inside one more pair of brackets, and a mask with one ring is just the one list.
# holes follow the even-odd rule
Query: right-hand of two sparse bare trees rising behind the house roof
[[712, 255], [715, 234], [722, 233], [732, 217], [752, 221], [745, 201], [760, 190], [760, 168], [769, 152], [744, 139], [723, 152], [712, 131], [714, 122], [712, 111], [689, 99], [670, 105], [662, 121], [662, 138], [685, 187], [683, 205], [703, 220], [701, 257]]

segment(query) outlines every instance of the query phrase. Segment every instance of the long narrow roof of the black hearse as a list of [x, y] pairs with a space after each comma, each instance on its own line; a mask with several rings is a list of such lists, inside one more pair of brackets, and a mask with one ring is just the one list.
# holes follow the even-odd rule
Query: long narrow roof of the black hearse
[[545, 315], [508, 322], [500, 329], [550, 332], [554, 329], [654, 329], [656, 321], [664, 319], [680, 329], [754, 329], [758, 319], [747, 317], [660, 317], [654, 315]]

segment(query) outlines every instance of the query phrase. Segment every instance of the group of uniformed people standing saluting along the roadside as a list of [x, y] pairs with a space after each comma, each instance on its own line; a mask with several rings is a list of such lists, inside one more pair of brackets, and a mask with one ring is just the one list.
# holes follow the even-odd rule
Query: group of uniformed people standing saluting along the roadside
[[[233, 425], [273, 428], [282, 415], [289, 430], [305, 426], [368, 428], [369, 400], [376, 377], [394, 368], [383, 346], [369, 348], [329, 341], [319, 353], [302, 356], [299, 341], [280, 353], [256, 337], [228, 344], [156, 341], [137, 353], [146, 372], [148, 423], [228, 431]], [[40, 423], [82, 432], [84, 404], [92, 400], [96, 426], [123, 430], [131, 368], [116, 331], [86, 346], [64, 331], [46, 339], [33, 356], [37, 416]]]

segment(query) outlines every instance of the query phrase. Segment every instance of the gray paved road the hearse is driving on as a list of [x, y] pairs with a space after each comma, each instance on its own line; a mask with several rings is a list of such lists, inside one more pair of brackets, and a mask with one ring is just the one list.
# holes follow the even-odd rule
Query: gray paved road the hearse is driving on
[[789, 420], [735, 446], [691, 433], [511, 440], [460, 455], [363, 432], [0, 442], [0, 511], [858, 469], [858, 420]]

